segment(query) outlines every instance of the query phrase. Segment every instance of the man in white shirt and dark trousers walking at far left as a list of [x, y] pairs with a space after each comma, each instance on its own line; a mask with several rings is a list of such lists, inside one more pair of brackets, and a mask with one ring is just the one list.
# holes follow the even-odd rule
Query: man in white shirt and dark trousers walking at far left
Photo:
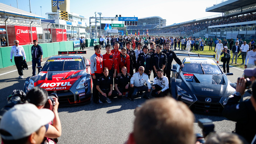
[[18, 40], [14, 40], [14, 44], [11, 48], [11, 62], [14, 55], [14, 62], [19, 73], [20, 79], [23, 78], [22, 60], [26, 61], [26, 54], [22, 46], [19, 45]]

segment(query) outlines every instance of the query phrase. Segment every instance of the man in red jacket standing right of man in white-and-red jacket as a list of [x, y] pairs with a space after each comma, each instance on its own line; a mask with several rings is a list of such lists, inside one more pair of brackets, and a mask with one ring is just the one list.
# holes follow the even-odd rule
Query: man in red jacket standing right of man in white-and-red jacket
[[108, 68], [108, 75], [115, 78], [116, 77], [116, 69], [117, 69], [117, 59], [116, 56], [111, 53], [111, 45], [106, 45], [106, 54], [102, 55], [103, 59], [103, 68]]

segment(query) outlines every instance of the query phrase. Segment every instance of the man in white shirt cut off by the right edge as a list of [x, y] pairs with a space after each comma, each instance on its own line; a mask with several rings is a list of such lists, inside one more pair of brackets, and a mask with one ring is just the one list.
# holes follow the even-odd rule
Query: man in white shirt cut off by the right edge
[[[248, 60], [248, 63], [247, 63]], [[252, 51], [247, 52], [246, 58], [245, 58], [245, 65], [244, 68], [255, 68], [256, 64], [256, 45], [252, 45]]]

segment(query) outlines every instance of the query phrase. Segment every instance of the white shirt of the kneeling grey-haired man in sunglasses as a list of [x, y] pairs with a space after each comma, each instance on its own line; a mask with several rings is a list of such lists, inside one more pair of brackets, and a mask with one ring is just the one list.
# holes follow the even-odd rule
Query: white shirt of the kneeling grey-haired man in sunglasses
[[150, 80], [147, 74], [143, 73], [142, 75], [140, 75], [139, 72], [136, 72], [132, 75], [130, 84], [139, 87], [145, 85], [145, 83], [148, 84], [148, 89], [151, 89]]

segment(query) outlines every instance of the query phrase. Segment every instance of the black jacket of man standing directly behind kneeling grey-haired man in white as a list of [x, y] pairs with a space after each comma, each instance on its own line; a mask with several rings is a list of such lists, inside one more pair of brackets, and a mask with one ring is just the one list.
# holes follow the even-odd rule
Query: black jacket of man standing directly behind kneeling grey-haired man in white
[[152, 60], [153, 59], [152, 59], [151, 53], [147, 53], [147, 54], [145, 54], [144, 52], [140, 53], [138, 56], [136, 69], [139, 69], [140, 66], [143, 66], [145, 68], [145, 71], [152, 70], [153, 68]]

